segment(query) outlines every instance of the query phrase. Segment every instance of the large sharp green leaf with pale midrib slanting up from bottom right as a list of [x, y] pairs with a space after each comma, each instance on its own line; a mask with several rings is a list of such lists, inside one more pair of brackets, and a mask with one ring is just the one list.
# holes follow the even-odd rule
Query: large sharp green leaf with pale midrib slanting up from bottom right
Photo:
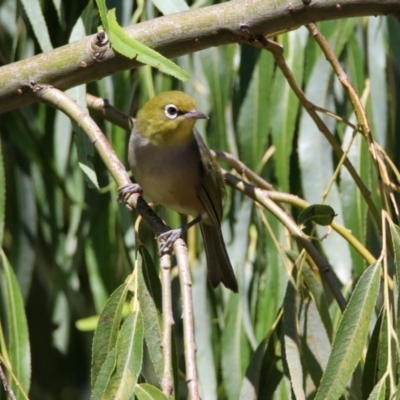
[[361, 276], [343, 313], [316, 400], [338, 399], [362, 355], [379, 291], [380, 263]]

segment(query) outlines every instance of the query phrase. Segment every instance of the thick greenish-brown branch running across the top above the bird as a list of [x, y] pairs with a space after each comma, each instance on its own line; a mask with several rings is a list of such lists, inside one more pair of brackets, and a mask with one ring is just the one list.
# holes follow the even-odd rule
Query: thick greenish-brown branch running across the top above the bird
[[[308, 2], [307, 2], [308, 3]], [[400, 15], [400, 0], [232, 0], [126, 28], [169, 58], [211, 46], [248, 41], [301, 25], [366, 15]], [[115, 54], [98, 35], [0, 68], [0, 113], [37, 101], [31, 83], [65, 90], [139, 66]]]

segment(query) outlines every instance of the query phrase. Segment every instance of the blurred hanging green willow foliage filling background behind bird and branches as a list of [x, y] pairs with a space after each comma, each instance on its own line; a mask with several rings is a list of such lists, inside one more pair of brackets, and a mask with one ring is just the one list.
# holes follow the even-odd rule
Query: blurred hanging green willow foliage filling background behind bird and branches
[[[116, 7], [118, 21], [126, 26], [159, 16], [158, 3], [115, 0], [107, 5]], [[165, 7], [162, 12], [172, 10], [168, 8], [172, 2], [161, 3]], [[183, 7], [180, 3], [175, 2], [176, 7]], [[189, 3], [190, 7], [200, 7], [213, 2]], [[39, 7], [39, 2], [0, 1], [1, 65], [77, 40], [95, 32], [100, 24], [92, 2], [43, 0], [43, 14], [35, 14], [35, 5]], [[38, 15], [43, 15], [45, 22], [40, 22]], [[318, 27], [363, 100], [374, 139], [399, 167], [400, 24], [390, 17], [377, 17], [328, 21]], [[349, 98], [308, 31], [300, 28], [276, 40], [309, 100], [355, 123]], [[176, 62], [190, 73], [188, 83], [144, 66], [68, 92], [83, 104], [86, 92], [105, 97], [116, 108], [135, 115], [154, 93], [182, 89], [210, 116], [209, 122], [196, 125], [210, 148], [233, 154], [277, 191], [310, 203], [325, 201], [324, 193], [338, 159], [300, 106], [270, 53], [231, 44]], [[126, 164], [127, 132], [99, 115], [93, 116]], [[322, 118], [345, 149], [353, 130], [330, 116]], [[0, 116], [0, 133], [0, 353], [11, 360], [23, 386], [30, 386], [30, 399], [88, 399], [94, 324], [87, 318], [101, 313], [110, 295], [132, 272], [136, 214], [116, 201], [117, 187], [98, 155], [79, 143], [71, 122], [60, 111], [35, 104], [9, 112]], [[79, 151], [87, 151], [101, 190], [85, 181], [76, 145]], [[381, 210], [376, 170], [360, 134], [348, 157]], [[398, 178], [393, 174], [397, 188]], [[394, 199], [396, 202], [396, 194]], [[338, 214], [336, 221], [378, 258], [386, 244], [345, 168], [334, 180], [326, 203]], [[300, 211], [290, 205], [287, 208], [294, 216]], [[397, 224], [394, 208], [390, 206], [389, 210], [393, 214], [389, 220]], [[346, 349], [344, 343], [356, 336], [357, 326], [348, 333], [341, 332], [342, 341], [336, 338], [332, 347], [340, 310], [315, 265], [300, 255], [286, 228], [271, 213], [232, 189], [225, 212], [223, 233], [239, 281], [238, 295], [208, 287], [199, 235], [192, 232], [188, 238], [202, 398], [283, 399], [291, 394], [314, 398], [332, 348]], [[181, 222], [172, 213], [167, 219], [173, 226]], [[397, 250], [399, 233], [394, 224], [391, 231]], [[347, 318], [361, 324], [363, 307], [373, 314], [371, 326], [359, 325], [368, 341], [364, 338], [348, 347], [349, 351], [360, 348], [360, 354], [353, 357], [355, 371], [347, 375], [340, 369], [332, 371], [331, 379], [344, 376], [346, 397], [351, 399], [368, 398], [382, 377], [380, 383], [386, 382], [386, 393], [394, 394], [398, 385], [398, 336], [387, 328], [396, 329], [393, 285], [385, 280], [378, 303], [361, 306], [362, 300], [378, 295], [381, 264], [372, 265], [363, 275], [368, 267], [363, 255], [326, 227], [318, 228], [316, 235], [326, 233], [329, 235], [324, 241], [315, 243], [346, 298], [360, 282], [360, 293], [356, 293], [361, 296], [360, 302]], [[140, 225], [140, 240], [157, 266], [156, 244], [144, 223]], [[385, 258], [383, 265], [393, 279], [393, 257]], [[177, 274], [173, 272], [173, 276], [179, 398], [185, 398], [180, 292]], [[387, 297], [383, 288], [389, 290]], [[82, 328], [86, 325], [88, 330]], [[18, 349], [13, 348], [15, 337], [21, 344]], [[361, 357], [363, 349], [366, 357]], [[141, 382], [154, 384], [146, 351], [143, 357]], [[341, 365], [340, 360], [337, 362]], [[378, 386], [376, 390], [382, 395], [384, 389]], [[23, 398], [20, 393], [18, 398]]]

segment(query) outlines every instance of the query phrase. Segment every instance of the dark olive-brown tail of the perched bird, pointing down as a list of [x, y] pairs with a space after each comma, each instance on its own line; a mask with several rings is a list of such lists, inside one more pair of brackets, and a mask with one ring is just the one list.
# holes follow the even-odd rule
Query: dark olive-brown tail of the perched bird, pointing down
[[228, 289], [236, 293], [238, 284], [221, 230], [205, 223], [200, 223], [200, 228], [206, 250], [208, 279], [212, 287], [215, 288], [222, 282]]

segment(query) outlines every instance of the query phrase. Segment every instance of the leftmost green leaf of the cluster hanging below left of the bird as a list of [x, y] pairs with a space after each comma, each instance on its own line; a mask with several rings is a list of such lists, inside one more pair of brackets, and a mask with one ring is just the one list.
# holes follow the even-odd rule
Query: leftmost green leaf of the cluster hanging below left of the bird
[[100, 315], [99, 323], [93, 337], [92, 387], [96, 383], [103, 363], [117, 341], [127, 292], [128, 286], [124, 283], [110, 296]]

